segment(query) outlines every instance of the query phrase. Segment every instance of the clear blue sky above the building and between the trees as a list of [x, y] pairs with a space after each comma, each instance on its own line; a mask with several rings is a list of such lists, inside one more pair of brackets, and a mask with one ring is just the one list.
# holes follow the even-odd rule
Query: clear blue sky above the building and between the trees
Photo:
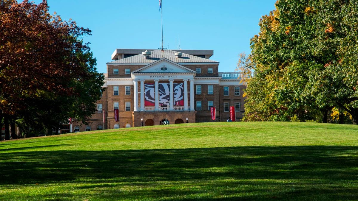
[[[21, 1], [21, 0], [18, 0]], [[34, 0], [36, 4], [42, 0]], [[214, 50], [219, 72], [233, 72], [238, 54], [250, 53], [250, 38], [258, 34], [262, 15], [276, 0], [162, 0], [164, 45], [169, 49]], [[92, 30], [91, 43], [98, 72], [107, 73], [116, 48], [161, 47], [159, 0], [48, 0], [50, 13]]]

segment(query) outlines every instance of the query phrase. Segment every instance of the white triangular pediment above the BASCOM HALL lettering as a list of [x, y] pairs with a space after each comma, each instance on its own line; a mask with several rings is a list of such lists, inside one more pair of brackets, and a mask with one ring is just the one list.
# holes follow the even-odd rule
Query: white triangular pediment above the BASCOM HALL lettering
[[177, 64], [169, 59], [162, 58], [146, 65], [132, 73], [196, 73], [194, 70]]

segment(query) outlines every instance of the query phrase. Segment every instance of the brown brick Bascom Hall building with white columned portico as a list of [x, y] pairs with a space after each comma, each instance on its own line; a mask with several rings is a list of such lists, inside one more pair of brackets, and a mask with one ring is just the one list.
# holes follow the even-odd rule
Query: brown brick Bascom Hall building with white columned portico
[[88, 126], [74, 122], [72, 131], [137, 127], [141, 119], [144, 126], [164, 119], [211, 122], [211, 107], [216, 107], [217, 121], [226, 121], [229, 106], [235, 106], [239, 121], [246, 86], [240, 73], [219, 73], [212, 55], [213, 50], [116, 49], [107, 63], [97, 113]]

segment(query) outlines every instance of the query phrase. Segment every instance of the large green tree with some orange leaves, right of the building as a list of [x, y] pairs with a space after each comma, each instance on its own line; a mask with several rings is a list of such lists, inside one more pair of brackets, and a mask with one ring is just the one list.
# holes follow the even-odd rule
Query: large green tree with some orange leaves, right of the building
[[[260, 103], [268, 108], [261, 120], [296, 115], [301, 121], [326, 122], [337, 106], [357, 123], [358, 33], [353, 30], [358, 29], [358, 4], [279, 0], [275, 6], [251, 39], [256, 74], [247, 87], [245, 119], [253, 120]], [[265, 90], [257, 91], [260, 88]]]

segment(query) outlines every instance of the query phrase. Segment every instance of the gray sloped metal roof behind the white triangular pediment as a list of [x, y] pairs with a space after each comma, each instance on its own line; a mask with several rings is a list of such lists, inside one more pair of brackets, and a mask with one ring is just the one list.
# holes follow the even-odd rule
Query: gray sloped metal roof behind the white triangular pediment
[[211, 59], [205, 59], [201, 57], [196, 57], [190, 54], [183, 53], [181, 58], [175, 57], [175, 52], [173, 50], [153, 50], [150, 51], [152, 54], [150, 55], [150, 58], [145, 59], [142, 54], [134, 55], [132, 57], [127, 57], [124, 59], [115, 60], [112, 62], [108, 62], [107, 64], [111, 63], [153, 63], [161, 58], [169, 59], [175, 63], [219, 63], [217, 61], [211, 60]]

